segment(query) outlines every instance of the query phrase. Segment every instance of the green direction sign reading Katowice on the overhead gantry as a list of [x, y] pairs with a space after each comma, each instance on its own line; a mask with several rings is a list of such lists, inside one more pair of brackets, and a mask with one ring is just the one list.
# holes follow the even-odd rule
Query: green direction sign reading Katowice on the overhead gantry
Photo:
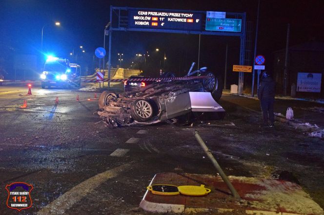
[[206, 17], [206, 31], [241, 32], [242, 19]]

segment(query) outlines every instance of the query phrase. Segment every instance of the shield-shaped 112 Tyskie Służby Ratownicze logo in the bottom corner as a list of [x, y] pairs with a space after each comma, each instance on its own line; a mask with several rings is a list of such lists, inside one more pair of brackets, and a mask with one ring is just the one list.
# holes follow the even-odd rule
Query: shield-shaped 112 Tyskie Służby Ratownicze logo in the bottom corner
[[30, 192], [34, 189], [33, 185], [25, 182], [14, 182], [6, 186], [8, 192], [7, 207], [17, 211], [28, 209], [32, 206]]

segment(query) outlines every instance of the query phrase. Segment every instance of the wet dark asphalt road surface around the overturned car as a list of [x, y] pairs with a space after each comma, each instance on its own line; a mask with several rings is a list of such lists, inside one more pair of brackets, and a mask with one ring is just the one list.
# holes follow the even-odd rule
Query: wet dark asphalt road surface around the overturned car
[[[227, 175], [271, 178], [285, 170], [324, 207], [323, 140], [280, 122], [259, 127], [256, 100], [223, 95], [222, 121], [109, 129], [96, 114], [94, 92], [27, 91], [0, 87], [1, 214], [15, 212], [4, 188], [16, 181], [34, 186], [33, 206], [20, 214], [148, 214], [139, 203], [156, 173], [216, 174], [194, 130]], [[278, 102], [275, 111], [287, 105], [294, 104]]]

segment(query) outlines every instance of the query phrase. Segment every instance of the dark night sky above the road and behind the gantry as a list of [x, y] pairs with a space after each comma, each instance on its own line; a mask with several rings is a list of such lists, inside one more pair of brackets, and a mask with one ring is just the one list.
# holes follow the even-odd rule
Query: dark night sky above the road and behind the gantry
[[[257, 0], [1, 0], [0, 61], [8, 50], [14, 54], [36, 54], [41, 50], [41, 28], [44, 27], [43, 50], [61, 57], [82, 45], [88, 55], [103, 46], [103, 29], [109, 22], [110, 5], [194, 11], [246, 12], [246, 20], [255, 28]], [[287, 23], [291, 24], [290, 45], [310, 40], [324, 41], [323, 0], [261, 0], [258, 51], [271, 68], [272, 53], [286, 43]], [[55, 21], [61, 26], [56, 27]], [[253, 44], [254, 44], [253, 32]], [[167, 55], [165, 68], [181, 74], [192, 61], [197, 62], [198, 35], [114, 32], [112, 65], [117, 53], [124, 54], [124, 66], [136, 60], [136, 53], [153, 54], [160, 48]], [[202, 36], [201, 66], [224, 71], [226, 43], [229, 65], [239, 64], [240, 41], [236, 37]], [[106, 44], [108, 36], [106, 37]], [[252, 52], [254, 46], [252, 47]], [[81, 53], [80, 53], [81, 54]], [[152, 55], [153, 57], [153, 55]], [[157, 56], [160, 57], [160, 56]]]

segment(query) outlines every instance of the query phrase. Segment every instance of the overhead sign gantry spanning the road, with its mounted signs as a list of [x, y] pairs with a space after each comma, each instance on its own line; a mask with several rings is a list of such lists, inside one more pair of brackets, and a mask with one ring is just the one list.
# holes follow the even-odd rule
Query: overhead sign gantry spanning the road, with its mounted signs
[[[113, 31], [239, 36], [241, 39], [240, 65], [244, 65], [245, 13], [110, 6], [108, 77], [110, 77]], [[240, 72], [239, 93], [241, 94], [242, 91], [243, 72]]]

